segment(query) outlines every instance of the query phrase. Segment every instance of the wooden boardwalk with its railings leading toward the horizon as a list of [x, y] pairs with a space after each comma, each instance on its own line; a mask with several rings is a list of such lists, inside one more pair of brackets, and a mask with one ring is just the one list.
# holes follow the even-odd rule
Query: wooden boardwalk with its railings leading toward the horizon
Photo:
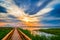
[[2, 40], [31, 40], [22, 31], [14, 28]]

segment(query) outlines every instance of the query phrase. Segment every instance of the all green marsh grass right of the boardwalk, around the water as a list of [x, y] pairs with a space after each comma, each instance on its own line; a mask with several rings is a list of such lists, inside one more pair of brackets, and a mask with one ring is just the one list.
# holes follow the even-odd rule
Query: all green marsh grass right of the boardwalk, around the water
[[[60, 40], [60, 29], [40, 29], [39, 31], [56, 34], [59, 36], [51, 36], [46, 38], [45, 35], [39, 36], [39, 35], [33, 35], [29, 30], [23, 30], [19, 28], [23, 33], [25, 33], [28, 37], [30, 37], [32, 40]], [[57, 33], [56, 33], [57, 32]]]

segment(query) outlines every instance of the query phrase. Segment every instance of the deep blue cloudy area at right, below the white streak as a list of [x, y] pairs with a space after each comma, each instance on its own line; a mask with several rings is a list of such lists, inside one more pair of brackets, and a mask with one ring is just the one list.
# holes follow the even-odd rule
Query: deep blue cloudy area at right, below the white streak
[[41, 23], [46, 26], [60, 26], [60, 4], [54, 6], [54, 10], [44, 14]]

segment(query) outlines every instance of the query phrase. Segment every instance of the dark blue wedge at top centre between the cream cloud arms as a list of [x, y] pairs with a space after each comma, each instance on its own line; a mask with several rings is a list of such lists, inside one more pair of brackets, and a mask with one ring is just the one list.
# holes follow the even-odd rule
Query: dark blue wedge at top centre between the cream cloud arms
[[[36, 14], [52, 0], [13, 0], [17, 6], [30, 15]], [[41, 5], [40, 5], [41, 4]]]

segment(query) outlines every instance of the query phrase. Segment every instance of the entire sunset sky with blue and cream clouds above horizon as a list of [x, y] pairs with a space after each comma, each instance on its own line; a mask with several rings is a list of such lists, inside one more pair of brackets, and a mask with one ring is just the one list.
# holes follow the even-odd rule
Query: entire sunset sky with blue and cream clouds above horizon
[[60, 0], [0, 0], [0, 26], [9, 23], [20, 26], [22, 21], [60, 26]]

